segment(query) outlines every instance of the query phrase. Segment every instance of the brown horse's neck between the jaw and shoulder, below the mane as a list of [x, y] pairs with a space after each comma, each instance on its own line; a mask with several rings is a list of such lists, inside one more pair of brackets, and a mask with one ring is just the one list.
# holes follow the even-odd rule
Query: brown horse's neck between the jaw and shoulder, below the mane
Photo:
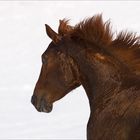
[[130, 86], [126, 81], [131, 72], [115, 57], [101, 53], [100, 50], [76, 49], [77, 53], [73, 53], [72, 57], [79, 66], [81, 84], [87, 93], [91, 110], [104, 96]]

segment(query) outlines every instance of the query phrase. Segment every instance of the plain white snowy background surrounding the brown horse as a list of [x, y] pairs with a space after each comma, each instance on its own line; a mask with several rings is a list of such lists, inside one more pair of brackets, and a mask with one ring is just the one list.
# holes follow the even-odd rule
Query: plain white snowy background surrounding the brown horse
[[0, 139], [86, 139], [89, 105], [82, 87], [54, 104], [50, 114], [30, 103], [50, 39], [47, 23], [57, 30], [59, 19], [71, 24], [103, 13], [113, 30], [140, 33], [140, 2], [69, 1], [0, 2]]

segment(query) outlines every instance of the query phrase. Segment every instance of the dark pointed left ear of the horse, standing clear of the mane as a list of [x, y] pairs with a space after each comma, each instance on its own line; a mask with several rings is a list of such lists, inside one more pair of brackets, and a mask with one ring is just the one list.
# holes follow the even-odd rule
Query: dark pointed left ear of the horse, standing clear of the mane
[[54, 43], [57, 43], [61, 40], [61, 36], [58, 35], [55, 31], [53, 31], [49, 25], [45, 24], [45, 27], [47, 35], [52, 39]]

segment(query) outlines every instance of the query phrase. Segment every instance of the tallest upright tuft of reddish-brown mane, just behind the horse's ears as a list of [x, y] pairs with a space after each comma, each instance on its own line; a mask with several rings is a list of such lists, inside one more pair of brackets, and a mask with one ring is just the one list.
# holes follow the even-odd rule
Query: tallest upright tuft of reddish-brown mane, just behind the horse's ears
[[102, 15], [95, 15], [77, 24], [72, 36], [98, 44], [110, 44], [113, 33], [110, 21], [103, 22]]

